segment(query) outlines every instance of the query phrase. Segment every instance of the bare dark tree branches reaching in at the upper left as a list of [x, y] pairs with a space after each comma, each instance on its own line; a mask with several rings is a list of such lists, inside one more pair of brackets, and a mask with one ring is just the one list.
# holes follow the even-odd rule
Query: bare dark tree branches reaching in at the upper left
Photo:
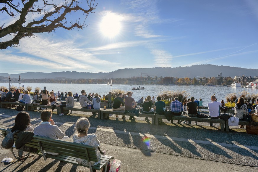
[[[95, 0], [86, 0], [86, 2], [65, 0], [62, 3], [63, 5], [46, 0], [0, 0], [2, 6], [0, 9], [1, 18], [9, 16], [17, 19], [7, 26], [5, 26], [6, 23], [0, 21], [0, 49], [18, 46], [20, 39], [33, 37], [34, 33], [51, 33], [57, 28], [66, 30], [85, 28], [87, 26], [85, 24], [87, 15], [93, 13], [98, 5], [95, 4]], [[87, 9], [84, 9], [86, 6]], [[78, 17], [79, 12], [82, 12], [85, 19], [80, 21], [78, 17], [74, 21], [67, 22], [67, 14], [72, 15], [72, 12], [75, 12], [76, 17]], [[5, 41], [1, 41], [1, 38], [4, 38]]]

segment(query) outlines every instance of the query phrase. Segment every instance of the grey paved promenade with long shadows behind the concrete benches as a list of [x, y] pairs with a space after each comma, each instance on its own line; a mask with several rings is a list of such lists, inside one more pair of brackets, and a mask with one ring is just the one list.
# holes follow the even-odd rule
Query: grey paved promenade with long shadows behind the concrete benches
[[[41, 122], [40, 112], [29, 112], [33, 127]], [[12, 127], [17, 113], [14, 109], [0, 108], [0, 127]], [[223, 132], [216, 124], [214, 127], [199, 122], [198, 126], [171, 124], [164, 119], [165, 123], [157, 126], [148, 124], [144, 118], [123, 121], [116, 120], [114, 115], [110, 120], [100, 120], [91, 113], [76, 111], [64, 116], [54, 112], [52, 119], [72, 141], [74, 124], [80, 117], [89, 117], [89, 133], [98, 136], [100, 148], [123, 162], [121, 172], [258, 171], [258, 136], [247, 135], [244, 129], [231, 128], [230, 132]], [[150, 138], [149, 147], [142, 142], [144, 136]], [[2, 141], [2, 135], [0, 139]], [[0, 159], [5, 157], [14, 158], [10, 150], [0, 148]], [[49, 158], [44, 161], [43, 157], [33, 154], [22, 161], [1, 163], [0, 170], [89, 171]]]

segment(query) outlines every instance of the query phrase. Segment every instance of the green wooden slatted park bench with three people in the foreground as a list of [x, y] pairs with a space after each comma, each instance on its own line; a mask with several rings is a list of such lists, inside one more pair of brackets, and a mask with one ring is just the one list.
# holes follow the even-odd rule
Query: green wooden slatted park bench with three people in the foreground
[[[2, 134], [5, 137], [6, 129], [0, 128], [0, 131], [2, 132]], [[14, 136], [15, 141], [16, 141], [16, 139], [17, 139], [17, 135]], [[47, 158], [51, 158], [51, 159], [63, 161], [66, 163], [80, 165], [83, 167], [90, 168], [91, 172], [93, 169], [101, 170], [101, 168], [104, 168], [104, 167], [105, 167], [105, 171], [106, 171], [108, 161], [113, 158], [111, 156], [101, 155], [100, 163], [98, 163], [97, 165], [94, 165], [94, 166], [90, 166], [90, 164], [82, 165], [82, 164], [77, 163], [76, 158], [85, 159], [88, 162], [90, 162], [90, 161], [98, 162], [97, 155], [95, 152], [95, 147], [87, 146], [84, 144], [66, 142], [66, 141], [62, 141], [62, 140], [58, 140], [58, 139], [50, 139], [50, 138], [36, 136], [36, 135], [33, 136], [32, 142], [28, 142], [25, 145], [39, 149], [38, 152], [36, 152], [34, 154], [43, 156], [44, 160], [46, 160]], [[13, 151], [14, 148], [15, 148], [15, 144], [10, 149], [12, 154], [14, 155], [14, 157], [16, 159], [20, 159], [20, 157], [15, 155], [15, 153]], [[59, 155], [51, 155], [46, 152], [58, 153]], [[30, 153], [27, 153], [25, 156], [29, 156], [29, 155], [30, 155]]]

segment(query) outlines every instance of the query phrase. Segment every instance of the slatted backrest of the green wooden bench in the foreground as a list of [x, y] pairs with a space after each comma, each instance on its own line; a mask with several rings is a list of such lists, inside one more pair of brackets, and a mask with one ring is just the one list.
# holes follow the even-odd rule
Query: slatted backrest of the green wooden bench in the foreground
[[[0, 131], [5, 136], [6, 129], [0, 128]], [[17, 139], [17, 134], [14, 136], [14, 141]], [[41, 150], [41, 148], [46, 152], [58, 153], [60, 155], [66, 155], [71, 157], [77, 157], [81, 159], [85, 159], [88, 162], [94, 161], [98, 162], [97, 155], [95, 152], [95, 147], [87, 146], [78, 143], [66, 142], [57, 139], [50, 139], [41, 136], [33, 136], [32, 142], [27, 142], [25, 145], [37, 148]]]

